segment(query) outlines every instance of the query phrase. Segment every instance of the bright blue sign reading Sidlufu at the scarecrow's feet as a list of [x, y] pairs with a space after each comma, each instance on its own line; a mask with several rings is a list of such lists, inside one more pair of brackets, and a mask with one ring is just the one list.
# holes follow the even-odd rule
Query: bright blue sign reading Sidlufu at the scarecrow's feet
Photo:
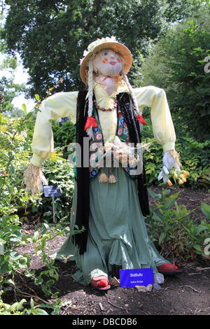
[[120, 287], [135, 288], [135, 286], [148, 286], [153, 284], [152, 268], [120, 269]]

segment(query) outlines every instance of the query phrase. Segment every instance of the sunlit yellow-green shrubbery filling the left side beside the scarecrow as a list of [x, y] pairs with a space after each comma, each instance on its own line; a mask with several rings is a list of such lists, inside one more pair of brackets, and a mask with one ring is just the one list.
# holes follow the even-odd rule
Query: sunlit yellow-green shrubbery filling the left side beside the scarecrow
[[[32, 113], [20, 119], [9, 120], [0, 115], [0, 286], [1, 295], [6, 292], [7, 286], [13, 286], [18, 290], [15, 284], [17, 272], [34, 279], [36, 285], [41, 286], [45, 295], [57, 297], [58, 293], [52, 295], [51, 286], [57, 281], [57, 267], [54, 265], [54, 259], [49, 258], [49, 248], [47, 241], [57, 235], [71, 235], [79, 231], [69, 232], [69, 223], [51, 225], [39, 223], [36, 225], [35, 232], [31, 235], [24, 234], [22, 221], [20, 221], [21, 211], [25, 213], [27, 208], [29, 216], [31, 209], [35, 209], [40, 197], [30, 195], [22, 188], [22, 174], [29, 165], [31, 157], [30, 144], [31, 134], [27, 133], [31, 127]], [[34, 129], [34, 127], [33, 127]], [[62, 187], [62, 201], [57, 208], [57, 216], [64, 218], [69, 214], [71, 194], [73, 192], [72, 176], [73, 172], [66, 160], [62, 159], [57, 153], [45, 162], [44, 171], [49, 179], [49, 183], [57, 184]], [[48, 211], [48, 204], [51, 198], [45, 198], [45, 210]], [[57, 200], [56, 200], [57, 202]], [[58, 202], [57, 202], [58, 204]], [[50, 211], [50, 214], [52, 210]], [[43, 214], [43, 218], [50, 221], [50, 214]], [[64, 222], [64, 221], [63, 221]], [[34, 247], [34, 253], [21, 254], [17, 250], [20, 246], [31, 244]], [[38, 277], [30, 269], [31, 257], [41, 255], [41, 260], [45, 263], [45, 271], [42, 271]], [[43, 280], [43, 278], [48, 278]], [[43, 309], [34, 308], [34, 302], [31, 299], [31, 308], [23, 309], [22, 304], [25, 300], [16, 302], [12, 305], [5, 304], [0, 297], [0, 314], [47, 314]], [[52, 309], [59, 309], [59, 305], [54, 303]]]

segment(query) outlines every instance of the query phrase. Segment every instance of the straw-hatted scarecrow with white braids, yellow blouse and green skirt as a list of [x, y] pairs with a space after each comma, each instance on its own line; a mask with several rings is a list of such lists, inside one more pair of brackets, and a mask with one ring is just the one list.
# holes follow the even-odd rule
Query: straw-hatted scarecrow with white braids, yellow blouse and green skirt
[[[132, 55], [115, 37], [97, 39], [80, 59], [80, 76], [87, 85], [83, 92], [59, 92], [41, 104], [37, 114], [31, 149], [31, 165], [25, 172], [27, 190], [41, 190], [47, 184], [41, 165], [53, 151], [51, 120], [71, 116], [76, 125], [75, 188], [71, 211], [71, 229], [85, 228], [66, 239], [57, 258], [75, 260], [78, 271], [73, 279], [107, 290], [118, 269], [153, 268], [154, 276], [180, 274], [178, 267], [162, 258], [148, 238], [144, 216], [148, 214], [148, 195], [144, 162], [141, 172], [133, 169], [138, 159], [130, 155], [130, 144], [141, 144], [141, 116], [151, 107], [154, 138], [162, 145], [164, 167], [158, 179], [167, 181], [168, 169], [179, 170], [175, 151], [176, 135], [165, 91], [154, 86], [132, 88], [127, 72]], [[89, 139], [88, 144], [84, 139]], [[117, 167], [102, 167], [108, 150], [123, 161]], [[119, 148], [121, 151], [118, 152]], [[123, 151], [122, 151], [123, 150]], [[89, 151], [88, 165], [83, 154]], [[78, 165], [78, 156], [80, 163]], [[101, 162], [100, 162], [101, 161]], [[104, 175], [104, 179], [101, 175]], [[114, 179], [110, 179], [110, 176]], [[101, 176], [101, 179], [100, 179]]]

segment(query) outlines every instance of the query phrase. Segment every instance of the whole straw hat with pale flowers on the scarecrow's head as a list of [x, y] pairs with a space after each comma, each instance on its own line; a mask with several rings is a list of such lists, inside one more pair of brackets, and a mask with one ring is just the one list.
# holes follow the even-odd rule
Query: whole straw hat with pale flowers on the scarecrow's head
[[123, 43], [119, 43], [115, 36], [107, 36], [106, 38], [97, 38], [96, 41], [90, 43], [88, 45], [87, 50], [83, 53], [83, 58], [80, 59], [80, 76], [83, 80], [83, 83], [87, 84], [87, 72], [88, 72], [88, 61], [94, 55], [96, 52], [99, 52], [103, 49], [111, 49], [115, 52], [118, 52], [118, 54], [123, 57], [125, 64], [123, 65], [123, 68], [125, 70], [125, 73], [127, 73], [130, 70], [130, 67], [132, 66], [132, 54], [130, 50], [123, 45]]

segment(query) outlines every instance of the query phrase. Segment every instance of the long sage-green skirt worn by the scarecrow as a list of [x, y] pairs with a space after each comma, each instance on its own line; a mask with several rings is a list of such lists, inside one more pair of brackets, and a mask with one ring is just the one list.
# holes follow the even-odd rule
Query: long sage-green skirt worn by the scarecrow
[[[139, 206], [137, 180], [125, 174], [122, 167], [114, 168], [117, 183], [100, 183], [99, 177], [90, 181], [90, 218], [87, 251], [80, 255], [69, 236], [59, 249], [62, 255], [75, 260], [78, 271], [73, 279], [87, 285], [94, 276], [111, 279], [113, 265], [122, 269], [153, 268], [169, 261], [162, 258], [148, 237]], [[71, 208], [71, 230], [76, 218], [76, 182]]]

